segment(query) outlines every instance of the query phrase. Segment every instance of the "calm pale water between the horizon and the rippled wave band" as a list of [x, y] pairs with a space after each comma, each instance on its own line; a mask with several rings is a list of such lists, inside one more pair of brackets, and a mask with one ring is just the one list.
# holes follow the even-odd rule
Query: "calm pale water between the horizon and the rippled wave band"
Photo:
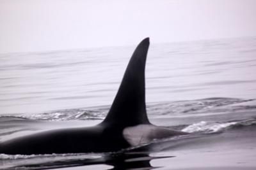
[[[151, 45], [147, 103], [255, 98], [255, 45], [256, 38]], [[110, 105], [134, 48], [0, 54], [0, 113]]]

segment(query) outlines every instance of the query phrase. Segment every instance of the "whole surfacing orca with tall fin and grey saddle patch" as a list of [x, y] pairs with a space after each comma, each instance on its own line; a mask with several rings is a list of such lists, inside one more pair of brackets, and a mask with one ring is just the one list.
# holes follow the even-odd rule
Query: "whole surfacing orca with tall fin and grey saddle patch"
[[143, 39], [129, 61], [106, 118], [93, 127], [38, 132], [0, 143], [0, 153], [102, 153], [187, 134], [150, 124], [145, 104], [145, 64], [149, 38]]

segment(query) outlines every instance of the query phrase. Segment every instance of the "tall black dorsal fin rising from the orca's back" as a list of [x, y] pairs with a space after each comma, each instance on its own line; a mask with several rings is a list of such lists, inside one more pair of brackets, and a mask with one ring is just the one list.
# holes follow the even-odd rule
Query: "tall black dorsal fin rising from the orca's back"
[[149, 38], [132, 54], [122, 83], [104, 123], [124, 126], [149, 124], [145, 104], [145, 64]]

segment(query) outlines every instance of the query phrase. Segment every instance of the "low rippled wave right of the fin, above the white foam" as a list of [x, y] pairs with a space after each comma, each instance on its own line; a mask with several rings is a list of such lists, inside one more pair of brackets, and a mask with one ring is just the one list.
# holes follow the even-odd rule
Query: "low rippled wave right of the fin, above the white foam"
[[[246, 103], [254, 99], [236, 99], [227, 97], [212, 97], [193, 101], [175, 101], [172, 103], [158, 103], [148, 106], [151, 115], [196, 115], [212, 113], [228, 113], [231, 111], [254, 110], [256, 106], [232, 106], [233, 104]], [[227, 107], [228, 106], [228, 107]]]

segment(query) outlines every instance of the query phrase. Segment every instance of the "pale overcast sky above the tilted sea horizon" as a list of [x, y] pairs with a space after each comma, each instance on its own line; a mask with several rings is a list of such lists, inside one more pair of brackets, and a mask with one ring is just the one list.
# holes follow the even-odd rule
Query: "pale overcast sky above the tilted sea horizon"
[[0, 53], [256, 36], [254, 0], [0, 0]]

